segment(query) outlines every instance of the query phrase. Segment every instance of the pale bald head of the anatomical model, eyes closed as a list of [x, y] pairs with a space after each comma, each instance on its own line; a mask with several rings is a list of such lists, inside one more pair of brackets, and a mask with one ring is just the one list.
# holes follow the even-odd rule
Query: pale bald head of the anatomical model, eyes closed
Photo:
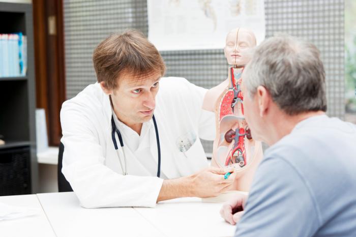
[[256, 37], [245, 28], [232, 29], [226, 36], [224, 48], [229, 65], [245, 66], [251, 59], [252, 48], [256, 46]]

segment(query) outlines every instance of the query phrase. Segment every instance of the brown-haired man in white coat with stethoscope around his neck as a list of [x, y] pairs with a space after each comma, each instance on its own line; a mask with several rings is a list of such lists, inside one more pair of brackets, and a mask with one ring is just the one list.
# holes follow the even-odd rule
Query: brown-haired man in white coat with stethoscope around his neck
[[206, 89], [161, 78], [163, 59], [139, 32], [112, 35], [94, 50], [98, 82], [61, 110], [62, 172], [85, 208], [148, 206], [229, 190], [234, 174], [207, 167], [199, 138], [215, 138]]

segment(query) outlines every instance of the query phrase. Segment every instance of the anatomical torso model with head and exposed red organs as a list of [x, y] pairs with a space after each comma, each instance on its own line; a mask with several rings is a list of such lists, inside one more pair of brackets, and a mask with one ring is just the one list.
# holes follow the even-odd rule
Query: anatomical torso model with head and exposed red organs
[[242, 72], [256, 46], [254, 34], [244, 28], [230, 31], [224, 48], [228, 78], [212, 88], [204, 98], [203, 109], [216, 115], [216, 138], [212, 165], [233, 166], [237, 172], [234, 189], [248, 191], [253, 174], [262, 158], [261, 142], [251, 137], [244, 119]]

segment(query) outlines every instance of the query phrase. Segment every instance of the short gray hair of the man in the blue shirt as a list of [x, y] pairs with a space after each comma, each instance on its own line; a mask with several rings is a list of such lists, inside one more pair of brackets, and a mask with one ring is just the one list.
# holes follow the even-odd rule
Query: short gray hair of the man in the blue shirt
[[289, 115], [327, 110], [320, 53], [307, 41], [286, 35], [263, 41], [247, 64], [243, 78], [249, 96], [262, 85]]

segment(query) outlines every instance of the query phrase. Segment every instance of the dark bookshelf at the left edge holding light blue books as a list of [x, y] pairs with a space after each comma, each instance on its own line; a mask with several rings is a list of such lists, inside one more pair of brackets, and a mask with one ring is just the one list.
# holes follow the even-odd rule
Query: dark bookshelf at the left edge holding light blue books
[[[0, 145], [0, 183], [2, 180], [4, 182], [14, 177], [22, 182], [7, 182], [5, 183], [7, 189], [4, 189], [4, 184], [0, 184], [3, 186], [0, 188], [0, 195], [36, 193], [38, 163], [32, 4], [0, 2], [0, 21], [6, 22], [0, 24], [0, 34], [21, 32], [27, 37], [26, 75], [0, 77], [0, 134], [4, 136], [6, 142], [5, 145]], [[10, 151], [17, 149], [22, 152], [22, 155], [17, 155], [16, 158], [11, 157]], [[11, 164], [11, 162], [16, 164]], [[16, 165], [21, 165], [17, 171], [23, 171], [28, 177], [19, 177], [20, 174], [15, 172], [17, 168], [10, 170]], [[6, 174], [8, 171], [10, 174]]]

